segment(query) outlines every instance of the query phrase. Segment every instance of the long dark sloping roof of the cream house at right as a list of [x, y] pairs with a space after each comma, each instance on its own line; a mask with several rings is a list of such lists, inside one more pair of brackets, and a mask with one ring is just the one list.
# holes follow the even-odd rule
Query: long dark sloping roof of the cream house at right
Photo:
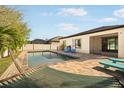
[[112, 29], [117, 29], [117, 28], [122, 28], [122, 27], [124, 27], [124, 25], [102, 26], [102, 27], [94, 28], [94, 29], [87, 30], [87, 31], [84, 31], [84, 32], [80, 32], [80, 33], [77, 33], [77, 34], [73, 34], [73, 35], [70, 35], [70, 36], [66, 36], [66, 37], [63, 37], [62, 39], [69, 38], [69, 37], [74, 37], [74, 36], [96, 33], [96, 32], [102, 32], [102, 31], [112, 30]]

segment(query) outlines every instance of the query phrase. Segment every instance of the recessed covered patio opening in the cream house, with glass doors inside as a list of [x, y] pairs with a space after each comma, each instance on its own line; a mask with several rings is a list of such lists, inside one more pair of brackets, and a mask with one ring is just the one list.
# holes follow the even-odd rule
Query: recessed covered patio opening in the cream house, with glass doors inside
[[118, 57], [118, 33], [91, 36], [90, 53]]

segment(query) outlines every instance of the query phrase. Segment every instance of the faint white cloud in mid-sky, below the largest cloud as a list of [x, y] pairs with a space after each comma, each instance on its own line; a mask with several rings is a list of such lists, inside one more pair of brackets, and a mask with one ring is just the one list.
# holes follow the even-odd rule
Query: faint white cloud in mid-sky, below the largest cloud
[[76, 25], [70, 23], [61, 23], [58, 27], [61, 31], [79, 31], [79, 28]]

